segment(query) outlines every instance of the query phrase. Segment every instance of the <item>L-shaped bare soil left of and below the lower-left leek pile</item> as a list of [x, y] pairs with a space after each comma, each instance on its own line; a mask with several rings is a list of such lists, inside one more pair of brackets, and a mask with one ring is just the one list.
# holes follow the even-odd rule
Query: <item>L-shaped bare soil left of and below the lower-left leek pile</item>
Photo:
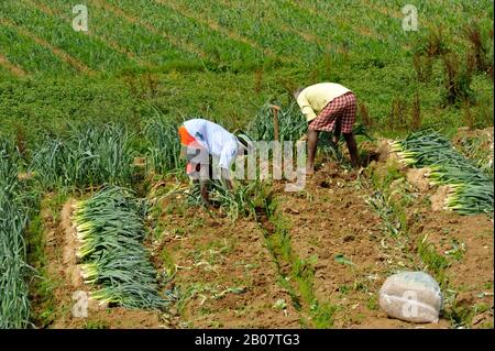
[[[48, 195], [50, 196], [50, 195]], [[76, 250], [77, 238], [72, 226], [72, 204], [68, 200], [62, 208], [61, 218], [55, 220], [50, 210], [42, 210], [45, 227], [45, 256], [46, 272], [51, 281], [56, 282], [54, 289], [55, 310], [54, 321], [46, 328], [164, 328], [160, 316], [155, 312], [143, 310], [130, 310], [121, 307], [107, 308], [95, 300], [89, 299], [88, 317], [74, 317], [72, 308], [76, 300], [73, 294], [76, 292], [89, 293], [84, 285], [80, 271], [77, 266]], [[34, 305], [35, 311], [41, 305]]]

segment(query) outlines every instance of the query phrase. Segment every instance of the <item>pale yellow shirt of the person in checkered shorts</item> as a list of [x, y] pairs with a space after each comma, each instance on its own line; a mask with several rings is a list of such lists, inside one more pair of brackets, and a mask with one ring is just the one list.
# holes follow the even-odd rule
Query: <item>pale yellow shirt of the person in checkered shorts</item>
[[312, 121], [330, 101], [345, 92], [351, 91], [337, 83], [319, 83], [306, 87], [297, 97], [297, 103], [306, 116], [306, 120]]

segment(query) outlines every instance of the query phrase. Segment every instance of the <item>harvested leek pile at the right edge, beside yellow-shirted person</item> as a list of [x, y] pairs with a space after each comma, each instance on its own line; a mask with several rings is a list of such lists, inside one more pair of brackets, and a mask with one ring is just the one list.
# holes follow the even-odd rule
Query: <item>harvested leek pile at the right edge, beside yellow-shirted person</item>
[[427, 130], [392, 144], [407, 165], [428, 167], [432, 185], [448, 185], [446, 209], [462, 215], [493, 213], [493, 179], [462, 156], [441, 134]]

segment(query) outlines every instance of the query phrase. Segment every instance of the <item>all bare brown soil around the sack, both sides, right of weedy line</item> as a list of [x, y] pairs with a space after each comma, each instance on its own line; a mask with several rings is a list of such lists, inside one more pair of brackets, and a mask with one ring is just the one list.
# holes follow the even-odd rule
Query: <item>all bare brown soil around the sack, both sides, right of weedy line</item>
[[[418, 188], [424, 189], [422, 186]], [[317, 256], [316, 294], [321, 300], [339, 306], [334, 326], [338, 328], [449, 328], [439, 323], [415, 325], [389, 319], [376, 309], [374, 298], [384, 279], [396, 270], [417, 270], [417, 242], [428, 234], [428, 241], [439, 253], [452, 249], [452, 241], [465, 244], [460, 261], [450, 260], [446, 273], [451, 286], [460, 292], [458, 304], [473, 307], [486, 304], [493, 310], [493, 222], [486, 216], [464, 217], [452, 212], [432, 212], [426, 194], [414, 189], [418, 197], [407, 209], [410, 226], [406, 254], [385, 238], [381, 219], [365, 204], [373, 189], [344, 173], [334, 163], [323, 164], [307, 183], [308, 195], [280, 195], [284, 215], [292, 223], [292, 242], [302, 259]], [[441, 191], [440, 191], [441, 193]], [[438, 197], [440, 197], [438, 195]], [[343, 254], [352, 264], [336, 262]], [[413, 261], [410, 257], [414, 257]], [[482, 296], [483, 295], [483, 296]], [[466, 297], [468, 296], [468, 297]], [[482, 297], [480, 297], [482, 296]], [[480, 315], [481, 316], [481, 315]], [[476, 316], [475, 318], [481, 318]], [[477, 321], [493, 326], [493, 312]]]

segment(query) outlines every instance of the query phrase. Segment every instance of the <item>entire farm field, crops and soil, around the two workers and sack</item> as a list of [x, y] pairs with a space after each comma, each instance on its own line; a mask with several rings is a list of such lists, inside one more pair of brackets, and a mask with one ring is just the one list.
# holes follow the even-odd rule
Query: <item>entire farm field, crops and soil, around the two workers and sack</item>
[[[75, 4], [0, 1], [0, 328], [493, 328], [493, 1], [417, 31], [396, 0]], [[322, 142], [304, 190], [201, 206], [179, 123], [271, 141], [275, 103], [296, 141], [318, 81], [356, 94], [363, 168]], [[406, 270], [438, 323], [378, 306]]]

